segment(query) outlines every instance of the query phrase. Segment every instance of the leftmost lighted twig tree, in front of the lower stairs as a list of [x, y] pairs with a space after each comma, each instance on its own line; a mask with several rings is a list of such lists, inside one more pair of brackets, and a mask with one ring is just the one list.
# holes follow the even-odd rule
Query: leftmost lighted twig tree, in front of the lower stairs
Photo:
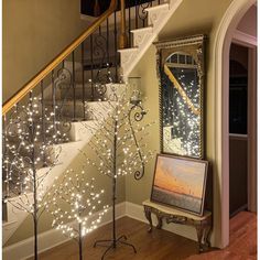
[[37, 226], [45, 210], [46, 176], [67, 140], [55, 120], [55, 108], [45, 108], [30, 93], [28, 105], [17, 105], [3, 119], [3, 198], [14, 209], [29, 213], [34, 225], [34, 259], [37, 259]]

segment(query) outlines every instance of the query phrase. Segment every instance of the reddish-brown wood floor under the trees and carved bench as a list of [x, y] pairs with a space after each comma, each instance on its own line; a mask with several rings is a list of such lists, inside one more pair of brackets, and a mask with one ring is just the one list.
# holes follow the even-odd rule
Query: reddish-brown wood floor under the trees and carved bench
[[[148, 234], [148, 225], [123, 217], [118, 220], [118, 235], [127, 235], [138, 253], [130, 247], [119, 246], [111, 250], [106, 260], [253, 260], [257, 259], [257, 216], [240, 213], [230, 221], [230, 246], [225, 250], [213, 250], [197, 254], [197, 243], [165, 230], [154, 229]], [[94, 241], [107, 239], [111, 226], [94, 231], [85, 239], [84, 260], [101, 259], [105, 247], [93, 248]], [[77, 260], [77, 243], [71, 241], [40, 256], [40, 260]]]

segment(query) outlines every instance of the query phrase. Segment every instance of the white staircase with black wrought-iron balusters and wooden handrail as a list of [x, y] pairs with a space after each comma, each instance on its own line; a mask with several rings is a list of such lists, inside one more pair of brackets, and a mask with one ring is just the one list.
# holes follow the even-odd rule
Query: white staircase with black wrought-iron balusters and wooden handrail
[[[21, 119], [24, 108], [31, 106], [33, 109], [37, 104], [39, 112], [31, 122], [33, 126], [41, 126], [41, 142], [47, 139], [44, 130], [57, 129], [57, 124], [59, 126], [61, 138], [50, 143], [52, 149], [44, 150], [40, 163], [31, 164], [36, 176], [48, 172], [42, 184], [43, 191], [46, 192], [55, 177], [62, 175], [77, 156], [78, 150], [95, 134], [86, 134], [84, 126], [94, 123], [91, 112], [96, 111], [106, 119], [110, 94], [113, 89], [121, 91], [126, 86], [131, 71], [181, 2], [182, 0], [148, 1], [127, 10], [122, 4], [121, 11], [117, 11], [117, 1], [112, 0], [109, 9], [83, 35], [3, 105], [3, 165], [7, 164], [3, 167], [3, 245], [29, 216], [29, 213], [18, 210], [13, 206], [19, 202], [24, 188], [21, 185], [21, 191], [11, 192], [13, 180], [10, 165], [14, 160], [14, 152], [7, 144], [21, 140], [19, 136], [10, 138], [10, 124]], [[120, 28], [120, 17], [126, 18], [124, 29]], [[117, 40], [126, 36], [129, 44], [127, 48], [120, 48]], [[52, 120], [47, 122], [48, 112]], [[17, 147], [15, 149], [15, 152], [20, 152]], [[4, 162], [7, 158], [8, 163]], [[46, 158], [50, 160], [45, 160]], [[22, 184], [21, 180], [17, 183]], [[28, 189], [28, 197], [32, 203], [32, 188]]]

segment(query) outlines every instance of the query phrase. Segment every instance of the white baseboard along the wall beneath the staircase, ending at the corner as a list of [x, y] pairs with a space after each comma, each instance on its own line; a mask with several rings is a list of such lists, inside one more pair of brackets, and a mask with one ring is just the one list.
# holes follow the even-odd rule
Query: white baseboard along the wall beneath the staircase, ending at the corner
[[[98, 214], [98, 213], [97, 213]], [[100, 225], [107, 225], [111, 223], [111, 207], [108, 213], [104, 216]], [[119, 219], [126, 216], [126, 203], [120, 203], [116, 206], [116, 218]], [[95, 215], [94, 215], [95, 218]], [[61, 243], [68, 241], [69, 238], [63, 236], [59, 230], [51, 229], [48, 231], [39, 235], [39, 253], [50, 250], [51, 248], [57, 247]], [[20, 242], [3, 248], [2, 259], [3, 260], [24, 260], [33, 256], [33, 241], [34, 237], [30, 237]]]

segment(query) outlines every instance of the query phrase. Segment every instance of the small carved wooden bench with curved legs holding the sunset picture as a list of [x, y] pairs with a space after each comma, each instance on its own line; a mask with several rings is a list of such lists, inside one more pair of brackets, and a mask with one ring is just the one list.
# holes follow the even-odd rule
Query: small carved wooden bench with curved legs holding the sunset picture
[[145, 201], [142, 203], [144, 207], [144, 214], [149, 220], [150, 228], [149, 232], [152, 231], [152, 216], [155, 214], [158, 218], [158, 229], [162, 228], [162, 220], [165, 219], [166, 224], [175, 223], [181, 225], [188, 225], [196, 228], [198, 249], [199, 252], [206, 251], [210, 247], [209, 234], [212, 230], [212, 213], [205, 212], [203, 216], [195, 216], [189, 213], [178, 210], [173, 207], [163, 206], [151, 201]]

